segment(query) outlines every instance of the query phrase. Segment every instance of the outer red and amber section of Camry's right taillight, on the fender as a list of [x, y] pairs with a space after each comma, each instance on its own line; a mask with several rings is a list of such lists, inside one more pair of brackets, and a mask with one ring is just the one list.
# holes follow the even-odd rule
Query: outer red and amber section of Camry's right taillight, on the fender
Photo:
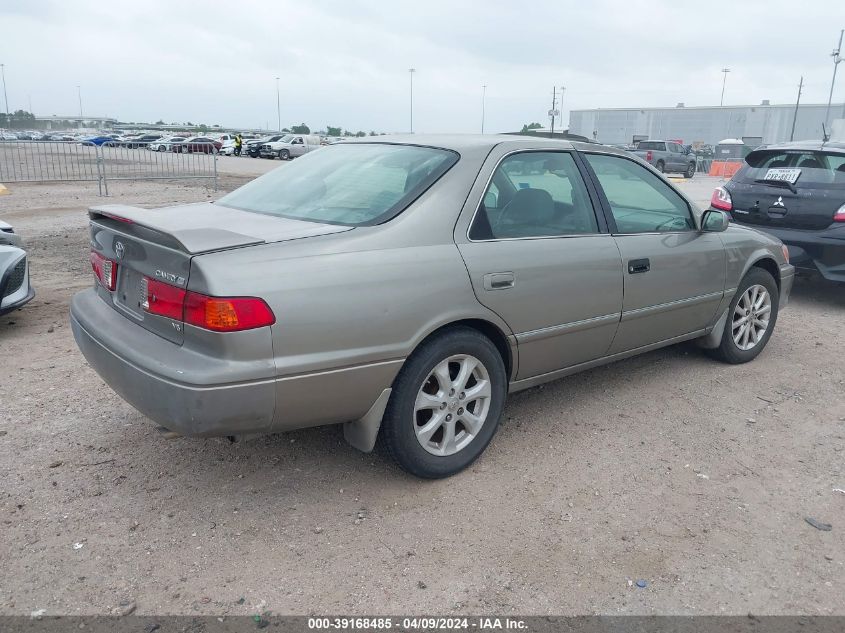
[[185, 297], [185, 323], [215, 332], [237, 332], [273, 325], [276, 317], [257, 297], [207, 297], [189, 292]]

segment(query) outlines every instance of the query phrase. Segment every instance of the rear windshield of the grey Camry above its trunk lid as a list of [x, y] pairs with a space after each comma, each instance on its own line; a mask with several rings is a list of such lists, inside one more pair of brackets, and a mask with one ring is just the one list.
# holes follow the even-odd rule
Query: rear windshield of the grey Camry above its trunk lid
[[223, 196], [217, 204], [295, 220], [367, 226], [386, 222], [458, 160], [413, 145], [330, 145]]

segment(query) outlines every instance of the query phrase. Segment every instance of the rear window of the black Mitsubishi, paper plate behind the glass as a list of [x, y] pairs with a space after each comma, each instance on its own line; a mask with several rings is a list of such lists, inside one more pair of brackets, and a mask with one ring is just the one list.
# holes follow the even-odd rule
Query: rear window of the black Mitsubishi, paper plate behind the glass
[[735, 176], [741, 182], [766, 180], [770, 169], [800, 170], [795, 187], [845, 189], [845, 154], [802, 150], [757, 150]]

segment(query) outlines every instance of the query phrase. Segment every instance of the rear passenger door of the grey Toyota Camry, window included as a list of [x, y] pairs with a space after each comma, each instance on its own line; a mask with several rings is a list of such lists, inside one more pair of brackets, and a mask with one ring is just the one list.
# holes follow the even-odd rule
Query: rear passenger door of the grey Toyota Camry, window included
[[621, 259], [576, 159], [494, 155], [487, 173], [491, 163], [492, 176], [480, 176], [486, 187], [473, 190], [472, 223], [455, 241], [478, 300], [516, 335], [517, 379], [603, 356], [619, 324]]

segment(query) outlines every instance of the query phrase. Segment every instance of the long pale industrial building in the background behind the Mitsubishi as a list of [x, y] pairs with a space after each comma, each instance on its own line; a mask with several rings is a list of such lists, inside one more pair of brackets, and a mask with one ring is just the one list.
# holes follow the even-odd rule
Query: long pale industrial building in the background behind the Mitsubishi
[[[826, 110], [827, 104], [800, 105], [794, 140], [821, 139]], [[760, 145], [790, 140], [794, 115], [795, 104], [768, 101], [756, 106], [685, 107], [679, 103], [674, 108], [598, 108], [572, 110], [569, 132], [607, 144], [651, 138], [715, 145], [725, 138], [742, 138], [749, 145]], [[843, 103], [830, 106], [829, 121], [837, 119], [845, 119]]]

